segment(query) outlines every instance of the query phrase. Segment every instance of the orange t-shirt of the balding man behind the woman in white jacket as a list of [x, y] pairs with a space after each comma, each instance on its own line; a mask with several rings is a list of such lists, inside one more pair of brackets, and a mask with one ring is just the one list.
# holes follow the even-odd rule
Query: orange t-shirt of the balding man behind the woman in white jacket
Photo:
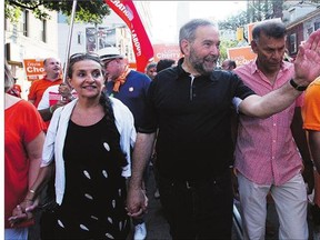
[[28, 94], [28, 100], [33, 100], [36, 108], [38, 108], [39, 102], [41, 101], [42, 94], [46, 91], [47, 88], [50, 86], [54, 84], [61, 84], [62, 79], [58, 79], [56, 81], [50, 81], [46, 77], [40, 80], [36, 80], [32, 82], [30, 89], [29, 89], [29, 94]]

